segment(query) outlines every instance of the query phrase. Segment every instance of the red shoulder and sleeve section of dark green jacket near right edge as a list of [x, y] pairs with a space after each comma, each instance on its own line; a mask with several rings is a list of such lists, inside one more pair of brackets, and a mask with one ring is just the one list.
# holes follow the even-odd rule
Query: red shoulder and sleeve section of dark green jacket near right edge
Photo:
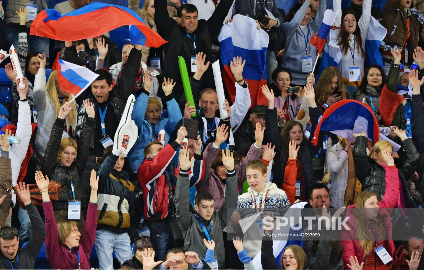
[[380, 95], [380, 115], [381, 120], [386, 127], [391, 126], [393, 122], [393, 114], [397, 107], [402, 104], [402, 101], [403, 97], [391, 92], [386, 85], [383, 86]]

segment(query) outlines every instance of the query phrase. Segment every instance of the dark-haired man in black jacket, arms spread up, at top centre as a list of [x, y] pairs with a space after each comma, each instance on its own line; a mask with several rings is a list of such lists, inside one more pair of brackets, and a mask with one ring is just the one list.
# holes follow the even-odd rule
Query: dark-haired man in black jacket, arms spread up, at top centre
[[[199, 52], [206, 54], [206, 62], [212, 62], [212, 40], [216, 38], [223, 21], [228, 14], [234, 0], [221, 0], [212, 16], [206, 21], [198, 20], [198, 10], [192, 4], [185, 4], [177, 10], [177, 22], [169, 17], [166, 0], [155, 0], [155, 23], [158, 34], [169, 42], [163, 45], [165, 58], [163, 75], [176, 82], [174, 96], [177, 102], [183, 92], [181, 75], [178, 68], [178, 56], [183, 56], [189, 78], [195, 73], [192, 60]], [[201, 82], [201, 88], [215, 87], [212, 67], [206, 70]]]

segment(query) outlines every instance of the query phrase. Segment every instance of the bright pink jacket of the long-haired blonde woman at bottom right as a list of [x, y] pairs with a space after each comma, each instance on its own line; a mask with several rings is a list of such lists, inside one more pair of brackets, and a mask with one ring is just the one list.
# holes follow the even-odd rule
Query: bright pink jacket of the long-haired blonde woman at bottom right
[[[382, 200], [379, 202], [380, 209], [378, 212], [379, 218], [384, 219], [385, 221], [385, 229], [388, 234], [388, 253], [393, 258], [394, 253], [396, 252], [395, 245], [392, 240], [392, 222], [390, 219], [391, 209], [396, 205], [399, 198], [399, 174], [398, 169], [388, 166], [382, 166], [386, 170], [385, 180], [386, 180], [386, 190]], [[343, 245], [343, 264], [345, 269], [349, 269], [347, 264], [350, 264], [349, 258], [351, 256], [357, 256], [358, 262], [365, 261], [365, 254], [360, 246], [359, 240], [348, 240], [356, 238], [357, 231], [357, 221], [356, 216], [354, 215], [355, 205], [348, 206], [346, 217], [349, 217], [349, 220], [346, 222], [346, 225], [350, 228], [350, 230], [346, 230], [344, 227], [340, 233], [340, 240]], [[373, 251], [374, 252], [374, 251]]]

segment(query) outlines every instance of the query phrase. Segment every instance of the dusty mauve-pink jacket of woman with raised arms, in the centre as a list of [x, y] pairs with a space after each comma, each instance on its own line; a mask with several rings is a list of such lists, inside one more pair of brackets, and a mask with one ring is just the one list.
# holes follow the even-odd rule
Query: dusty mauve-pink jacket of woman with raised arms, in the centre
[[[205, 160], [205, 175], [203, 180], [196, 184], [196, 189], [198, 192], [207, 191], [212, 194], [215, 201], [215, 210], [221, 208], [224, 202], [224, 189], [222, 188], [221, 181], [218, 176], [215, 174], [215, 171], [212, 169], [212, 163], [218, 156], [221, 149], [215, 149], [210, 143], [203, 152], [203, 158]], [[263, 153], [263, 148], [256, 148], [254, 144], [250, 147], [246, 158], [243, 163], [236, 168], [238, 186], [240, 191], [240, 186], [243, 184], [243, 181], [246, 179], [246, 165], [252, 160], [258, 160], [261, 158]]]

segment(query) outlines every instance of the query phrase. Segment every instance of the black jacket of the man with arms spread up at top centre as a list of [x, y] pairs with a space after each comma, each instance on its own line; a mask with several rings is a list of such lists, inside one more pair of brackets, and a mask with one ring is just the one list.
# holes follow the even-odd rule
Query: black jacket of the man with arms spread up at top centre
[[[196, 34], [195, 44], [197, 52], [206, 54], [206, 61], [212, 63], [212, 40], [218, 35], [223, 21], [231, 8], [233, 0], [221, 0], [215, 8], [212, 16], [206, 21], [198, 20], [198, 27], [194, 32]], [[158, 34], [162, 39], [169, 40], [163, 46], [165, 58], [163, 61], [163, 76], [171, 78], [177, 84], [181, 84], [181, 76], [178, 68], [178, 57], [183, 56], [186, 62], [189, 77], [194, 74], [191, 72], [190, 56], [195, 54], [193, 46], [188, 47], [186, 42], [187, 31], [184, 27], [178, 25], [175, 19], [169, 17], [166, 0], [155, 0], [155, 22]], [[188, 53], [190, 52], [190, 53]], [[215, 88], [212, 66], [206, 70], [203, 80], [208, 87]]]

